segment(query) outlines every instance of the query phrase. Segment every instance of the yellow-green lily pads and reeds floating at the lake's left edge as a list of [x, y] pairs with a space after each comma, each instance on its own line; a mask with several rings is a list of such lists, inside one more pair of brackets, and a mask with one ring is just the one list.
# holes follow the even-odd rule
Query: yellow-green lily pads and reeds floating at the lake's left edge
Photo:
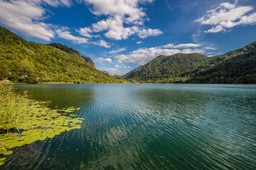
[[[8, 149], [53, 138], [63, 131], [80, 129], [83, 118], [65, 116], [80, 108], [50, 109], [46, 102], [27, 99], [13, 87], [0, 84], [0, 156]], [[73, 115], [72, 115], [73, 116]], [[5, 158], [0, 159], [0, 165]]]

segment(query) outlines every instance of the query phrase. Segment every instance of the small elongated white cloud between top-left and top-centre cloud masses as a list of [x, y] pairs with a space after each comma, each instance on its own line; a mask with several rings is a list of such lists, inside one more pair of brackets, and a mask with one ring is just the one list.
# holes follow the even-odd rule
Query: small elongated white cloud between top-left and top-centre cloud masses
[[56, 33], [58, 34], [59, 37], [66, 39], [66, 40], [71, 40], [73, 43], [76, 44], [86, 44], [88, 43], [88, 39], [85, 39], [83, 37], [77, 37], [71, 35], [69, 31], [63, 31], [61, 29], [57, 29]]

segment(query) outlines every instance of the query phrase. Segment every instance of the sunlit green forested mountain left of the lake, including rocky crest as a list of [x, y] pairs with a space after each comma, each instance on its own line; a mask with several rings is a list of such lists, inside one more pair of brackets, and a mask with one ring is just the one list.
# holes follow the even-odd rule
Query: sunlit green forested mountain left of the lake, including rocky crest
[[90, 60], [65, 45], [29, 42], [0, 26], [0, 79], [7, 75], [14, 83], [127, 82], [95, 69]]

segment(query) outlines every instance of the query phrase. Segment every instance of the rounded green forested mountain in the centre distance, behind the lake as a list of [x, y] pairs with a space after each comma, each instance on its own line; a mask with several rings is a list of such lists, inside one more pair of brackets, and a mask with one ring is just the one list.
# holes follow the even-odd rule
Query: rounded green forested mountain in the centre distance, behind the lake
[[209, 61], [203, 54], [174, 54], [172, 56], [158, 56], [146, 65], [125, 74], [125, 78], [142, 82], [173, 82], [174, 79], [187, 71], [199, 67], [201, 63]]

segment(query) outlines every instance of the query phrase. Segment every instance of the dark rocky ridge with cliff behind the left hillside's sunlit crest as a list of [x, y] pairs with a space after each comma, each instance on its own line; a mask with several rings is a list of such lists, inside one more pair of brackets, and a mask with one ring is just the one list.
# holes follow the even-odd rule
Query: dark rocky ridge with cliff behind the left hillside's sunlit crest
[[84, 59], [84, 61], [86, 61], [90, 66], [92, 66], [96, 69], [96, 66], [95, 66], [94, 62], [92, 61], [92, 59], [90, 59], [89, 57], [86, 57], [86, 56], [82, 56], [82, 54], [79, 51], [74, 50], [73, 48], [69, 48], [67, 45], [62, 45], [62, 44], [56, 43], [56, 42], [46, 44], [46, 45], [54, 46], [55, 48], [63, 50], [66, 53], [72, 54], [74, 57], [79, 57], [81, 59]]

